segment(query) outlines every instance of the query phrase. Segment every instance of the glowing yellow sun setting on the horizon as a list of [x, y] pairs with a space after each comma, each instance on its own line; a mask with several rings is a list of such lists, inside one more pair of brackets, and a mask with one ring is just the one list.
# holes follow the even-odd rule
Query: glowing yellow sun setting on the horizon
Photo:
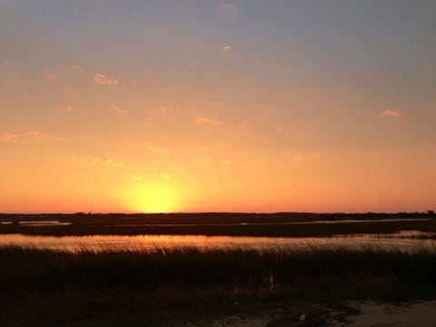
[[140, 213], [173, 213], [182, 210], [180, 193], [170, 183], [136, 186], [129, 192], [129, 207]]

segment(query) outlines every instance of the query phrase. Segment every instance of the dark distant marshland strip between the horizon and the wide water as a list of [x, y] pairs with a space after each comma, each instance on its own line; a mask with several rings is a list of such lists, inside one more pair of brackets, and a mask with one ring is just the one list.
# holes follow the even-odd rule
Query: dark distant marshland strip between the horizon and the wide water
[[[55, 220], [69, 225], [29, 226]], [[241, 236], [330, 236], [351, 233], [436, 232], [429, 213], [159, 213], [0, 214], [0, 233], [35, 235], [191, 234]]]

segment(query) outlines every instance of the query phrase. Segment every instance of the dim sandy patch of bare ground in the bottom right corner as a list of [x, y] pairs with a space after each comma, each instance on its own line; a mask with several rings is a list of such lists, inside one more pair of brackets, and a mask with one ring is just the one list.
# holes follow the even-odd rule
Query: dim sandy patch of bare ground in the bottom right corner
[[430, 327], [436, 326], [436, 301], [390, 304], [347, 302], [342, 307], [305, 305], [270, 312], [256, 317], [237, 315], [216, 321], [190, 322], [186, 327]]

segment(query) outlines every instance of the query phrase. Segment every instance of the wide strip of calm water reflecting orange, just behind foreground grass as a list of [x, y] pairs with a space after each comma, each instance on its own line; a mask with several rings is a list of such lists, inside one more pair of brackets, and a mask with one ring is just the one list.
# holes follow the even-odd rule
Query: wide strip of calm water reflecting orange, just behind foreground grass
[[92, 235], [34, 236], [0, 234], [0, 247], [21, 246], [64, 252], [145, 251], [162, 252], [194, 248], [211, 250], [312, 251], [317, 249], [352, 249], [377, 251], [436, 251], [433, 233], [401, 232], [393, 234], [355, 234], [333, 237], [234, 237], [201, 235]]

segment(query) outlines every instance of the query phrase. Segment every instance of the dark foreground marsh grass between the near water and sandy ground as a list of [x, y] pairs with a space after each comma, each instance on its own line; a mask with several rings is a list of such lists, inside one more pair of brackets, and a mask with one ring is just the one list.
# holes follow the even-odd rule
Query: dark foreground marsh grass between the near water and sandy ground
[[255, 312], [274, 303], [436, 296], [436, 253], [428, 252], [10, 247], [0, 249], [0, 262], [2, 325], [183, 325], [206, 313]]

